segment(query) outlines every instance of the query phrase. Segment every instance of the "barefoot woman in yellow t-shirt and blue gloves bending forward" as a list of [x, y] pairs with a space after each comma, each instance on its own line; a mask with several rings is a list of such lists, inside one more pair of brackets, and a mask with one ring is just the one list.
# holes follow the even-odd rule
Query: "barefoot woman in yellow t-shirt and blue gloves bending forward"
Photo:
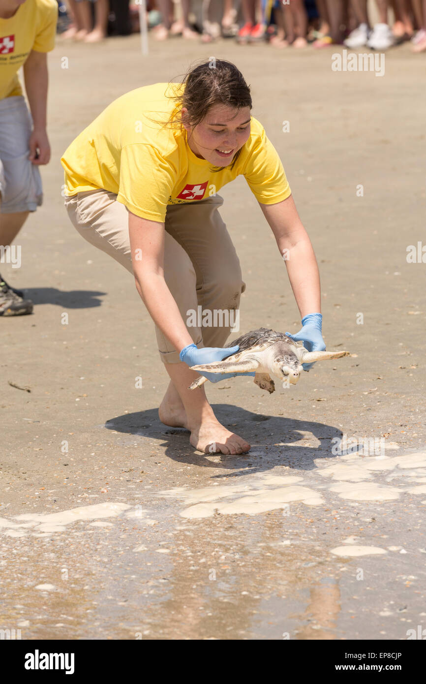
[[[250, 449], [217, 421], [205, 385], [188, 389], [198, 377], [191, 366], [238, 349], [223, 345], [245, 282], [217, 194], [237, 176], [244, 176], [286, 257], [302, 315], [295, 339], [310, 351], [325, 349], [315, 254], [280, 157], [251, 108], [237, 66], [212, 58], [182, 83], [155, 83], [118, 98], [61, 159], [72, 224], [133, 274], [155, 323], [170, 376], [159, 417], [187, 428], [204, 453]], [[203, 375], [212, 382], [230, 377]]]

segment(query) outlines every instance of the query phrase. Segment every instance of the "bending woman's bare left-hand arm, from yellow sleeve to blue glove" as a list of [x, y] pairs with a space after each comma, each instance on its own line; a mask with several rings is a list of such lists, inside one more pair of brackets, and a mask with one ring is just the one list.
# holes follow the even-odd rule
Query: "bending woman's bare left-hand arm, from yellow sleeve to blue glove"
[[156, 326], [180, 352], [193, 341], [164, 280], [164, 224], [129, 211], [129, 237], [136, 289]]

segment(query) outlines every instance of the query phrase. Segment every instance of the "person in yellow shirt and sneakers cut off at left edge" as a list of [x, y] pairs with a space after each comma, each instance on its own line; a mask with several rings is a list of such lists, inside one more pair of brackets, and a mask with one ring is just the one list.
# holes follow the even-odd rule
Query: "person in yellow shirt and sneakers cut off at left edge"
[[[42, 204], [38, 166], [50, 159], [46, 133], [46, 53], [55, 46], [56, 0], [0, 0], [0, 263], [21, 265], [12, 241]], [[18, 69], [23, 66], [25, 103]], [[14, 249], [15, 248], [15, 249]], [[0, 316], [31, 313], [33, 303], [0, 276]]]

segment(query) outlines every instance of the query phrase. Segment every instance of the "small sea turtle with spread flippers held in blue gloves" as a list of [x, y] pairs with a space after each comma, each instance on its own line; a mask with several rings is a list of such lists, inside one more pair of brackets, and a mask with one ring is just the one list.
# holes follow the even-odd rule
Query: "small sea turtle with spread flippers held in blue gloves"
[[[271, 394], [275, 391], [271, 375], [296, 384], [303, 370], [302, 363], [313, 363], [349, 355], [349, 352], [308, 352], [302, 343], [293, 341], [284, 332], [276, 332], [268, 328], [250, 330], [238, 339], [229, 342], [225, 347], [234, 345], [239, 345], [237, 354], [231, 354], [223, 361], [191, 366], [191, 370], [208, 373], [252, 373], [255, 371], [256, 385]], [[189, 385], [189, 389], [196, 389], [206, 380], [207, 378], [200, 376]]]

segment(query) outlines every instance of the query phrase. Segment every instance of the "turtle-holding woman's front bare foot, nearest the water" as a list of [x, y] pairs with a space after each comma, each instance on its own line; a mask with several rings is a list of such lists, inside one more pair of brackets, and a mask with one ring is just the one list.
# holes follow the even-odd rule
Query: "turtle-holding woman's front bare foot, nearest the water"
[[245, 439], [226, 430], [214, 416], [191, 430], [189, 441], [203, 453], [226, 453], [235, 456], [237, 453], [247, 453], [250, 450], [250, 444]]

